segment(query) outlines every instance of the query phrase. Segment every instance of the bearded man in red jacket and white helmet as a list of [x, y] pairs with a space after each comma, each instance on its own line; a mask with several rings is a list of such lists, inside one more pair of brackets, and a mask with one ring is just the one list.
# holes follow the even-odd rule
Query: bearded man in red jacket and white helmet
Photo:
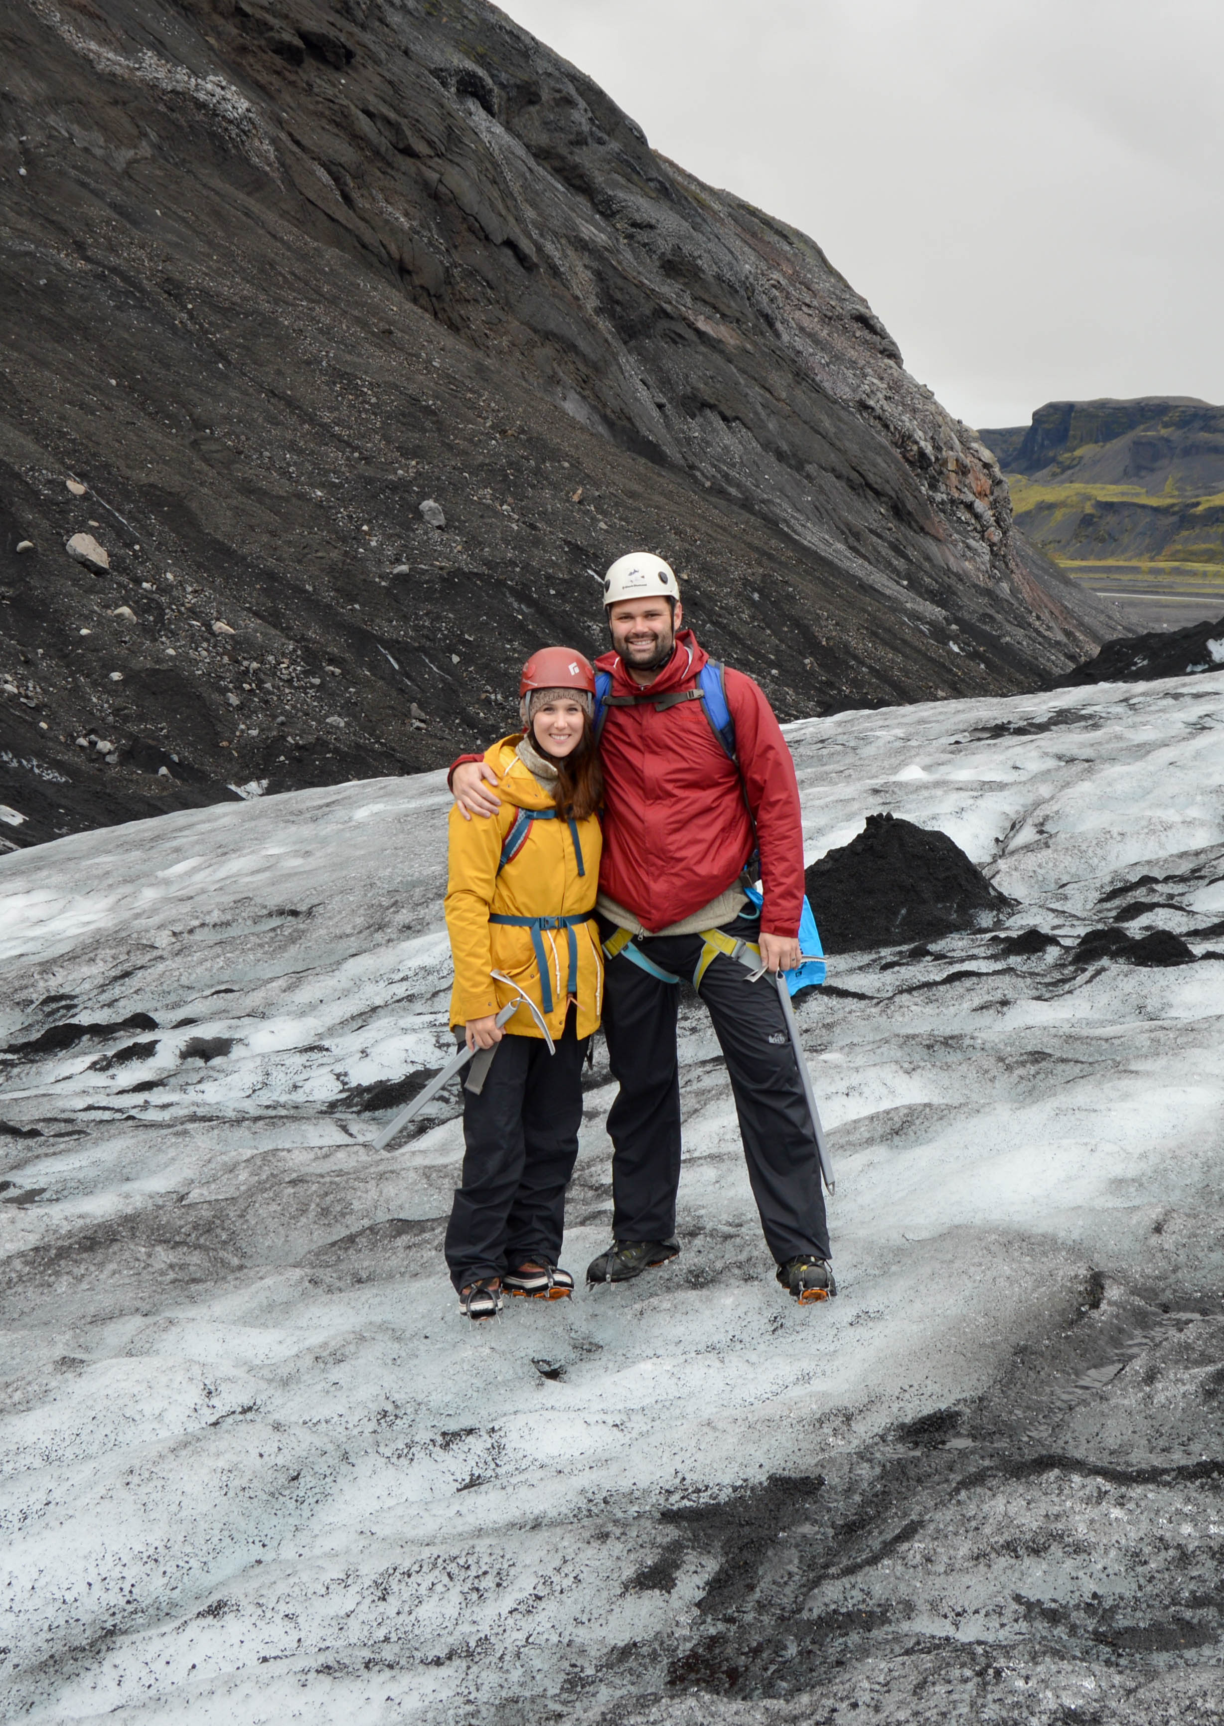
[[[708, 663], [685, 630], [675, 575], [647, 552], [604, 578], [613, 652], [599, 758], [604, 851], [596, 901], [608, 970], [604, 1034], [620, 1094], [613, 1141], [613, 1244], [589, 1282], [625, 1282], [675, 1258], [680, 1184], [678, 979], [710, 1008], [727, 1058], [739, 1131], [779, 1282], [796, 1300], [837, 1293], [817, 1139], [777, 989], [753, 984], [730, 956], [760, 944], [770, 972], [799, 963], [803, 827], [794, 763], [763, 690], [727, 670], [734, 754], [699, 687]], [[480, 756], [452, 768], [464, 815], [494, 815]], [[744, 892], [760, 853], [763, 904]], [[754, 872], [753, 872], [754, 873]]]

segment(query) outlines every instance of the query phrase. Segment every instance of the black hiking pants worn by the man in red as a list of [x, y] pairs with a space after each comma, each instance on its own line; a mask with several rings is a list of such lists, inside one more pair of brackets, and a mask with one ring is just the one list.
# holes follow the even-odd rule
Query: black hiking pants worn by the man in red
[[[606, 941], [611, 923], [599, 920]], [[746, 917], [723, 923], [732, 939], [754, 941]], [[701, 935], [646, 935], [646, 958], [677, 977], [692, 977]], [[613, 1236], [666, 1241], [675, 1234], [680, 1186], [680, 1063], [677, 984], [651, 977], [620, 953], [604, 979], [604, 1036], [620, 1094], [608, 1112], [613, 1141]], [[727, 1060], [748, 1158], [748, 1179], [765, 1241], [777, 1263], [801, 1255], [829, 1258], [817, 1136], [799, 1068], [770, 977], [748, 980], [739, 960], [718, 953], [701, 979], [715, 1036]]]

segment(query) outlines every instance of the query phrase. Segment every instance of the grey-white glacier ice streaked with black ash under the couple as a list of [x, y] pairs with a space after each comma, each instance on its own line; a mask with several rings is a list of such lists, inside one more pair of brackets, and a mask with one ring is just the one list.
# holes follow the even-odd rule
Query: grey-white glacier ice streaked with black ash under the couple
[[[789, 739], [808, 861], [891, 809], [1062, 942], [801, 1001], [823, 1308], [773, 1282], [689, 1003], [684, 1255], [464, 1329], [454, 1098], [390, 1153], [361, 1110], [451, 1048], [442, 775], [0, 860], [0, 1041], [93, 1027], [3, 1058], [14, 1717], [1219, 1717], [1219, 678]], [[1145, 894], [1195, 965], [1072, 961]], [[597, 1060], [577, 1274], [611, 1096]]]

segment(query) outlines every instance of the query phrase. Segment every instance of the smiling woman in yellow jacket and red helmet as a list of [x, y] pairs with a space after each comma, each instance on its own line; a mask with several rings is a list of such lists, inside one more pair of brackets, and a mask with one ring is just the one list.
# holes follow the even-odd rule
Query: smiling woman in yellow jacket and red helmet
[[[501, 1312], [502, 1289], [556, 1300], [565, 1189], [578, 1155], [582, 1063], [599, 1025], [596, 925], [603, 780], [592, 730], [594, 668], [568, 647], [523, 666], [523, 734], [485, 751], [497, 820], [451, 809], [445, 922], [454, 958], [451, 1024], [495, 1055], [480, 1094], [463, 1093], [463, 1184], [445, 1232], [451, 1281], [470, 1319]], [[556, 1046], [520, 1006], [539, 1008]]]

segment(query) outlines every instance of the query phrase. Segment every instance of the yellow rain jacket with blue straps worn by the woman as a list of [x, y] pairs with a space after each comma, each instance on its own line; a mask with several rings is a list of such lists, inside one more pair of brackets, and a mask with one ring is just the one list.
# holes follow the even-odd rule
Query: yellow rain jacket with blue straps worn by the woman
[[[464, 1025], [506, 1006], [514, 989], [492, 975], [502, 972], [535, 1001], [554, 1037], [565, 1030], [570, 986], [577, 984], [577, 1032], [587, 1037], [599, 1025], [604, 992], [594, 920], [603, 849], [599, 816], [561, 820], [551, 794], [514, 754], [518, 742], [518, 735], [502, 737], [485, 749], [485, 761], [497, 773], [502, 804], [497, 816], [464, 822], [457, 808], [451, 809], [445, 894], [454, 958], [451, 1024]], [[544, 820], [521, 820], [523, 811], [533, 809], [544, 811]], [[508, 846], [516, 847], [514, 854], [499, 868]], [[540, 1034], [525, 1006], [506, 1030], [520, 1037]]]

